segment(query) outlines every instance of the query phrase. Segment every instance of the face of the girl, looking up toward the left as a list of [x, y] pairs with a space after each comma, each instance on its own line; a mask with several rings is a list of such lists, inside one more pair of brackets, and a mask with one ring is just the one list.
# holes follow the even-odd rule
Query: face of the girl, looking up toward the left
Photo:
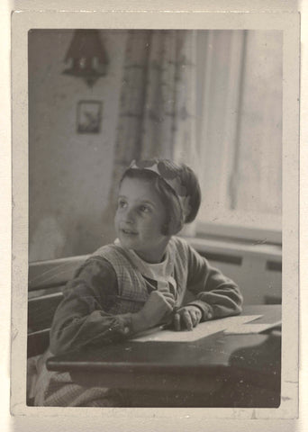
[[123, 247], [133, 249], [149, 263], [159, 263], [169, 240], [161, 234], [166, 216], [152, 184], [140, 178], [124, 177], [114, 220]]

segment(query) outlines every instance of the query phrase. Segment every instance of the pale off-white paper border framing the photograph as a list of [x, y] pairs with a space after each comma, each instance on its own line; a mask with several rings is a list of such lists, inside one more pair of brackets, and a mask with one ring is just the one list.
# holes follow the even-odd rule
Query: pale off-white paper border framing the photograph
[[[299, 15], [179, 12], [19, 12], [13, 16], [13, 186], [14, 272], [12, 411], [14, 415], [131, 418], [130, 409], [70, 409], [25, 406], [26, 304], [28, 262], [27, 31], [34, 28], [186, 28], [284, 31], [284, 229], [283, 229], [283, 388], [298, 382], [298, 120]], [[294, 312], [296, 311], [296, 313]], [[23, 367], [22, 367], [23, 366]], [[292, 385], [294, 384], [294, 385]], [[294, 394], [294, 401], [297, 400]], [[283, 401], [284, 402], [284, 401]], [[135, 418], [295, 419], [297, 401], [279, 409], [133, 409]], [[177, 412], [177, 415], [175, 414]]]

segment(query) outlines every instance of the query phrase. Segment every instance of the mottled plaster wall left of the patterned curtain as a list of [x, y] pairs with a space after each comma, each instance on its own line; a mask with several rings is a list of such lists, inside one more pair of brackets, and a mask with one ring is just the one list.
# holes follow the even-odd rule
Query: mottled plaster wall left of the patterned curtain
[[[113, 146], [126, 31], [101, 31], [106, 76], [92, 88], [63, 75], [73, 31], [29, 33], [30, 261], [89, 253], [113, 238], [102, 215], [113, 172]], [[77, 103], [103, 103], [101, 130], [77, 133]]]

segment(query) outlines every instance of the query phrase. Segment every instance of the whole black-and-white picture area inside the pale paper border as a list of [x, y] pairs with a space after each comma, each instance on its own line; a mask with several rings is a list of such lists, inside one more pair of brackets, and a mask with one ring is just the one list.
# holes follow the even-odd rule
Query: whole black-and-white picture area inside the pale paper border
[[27, 31], [26, 407], [296, 403], [284, 43], [278, 26]]

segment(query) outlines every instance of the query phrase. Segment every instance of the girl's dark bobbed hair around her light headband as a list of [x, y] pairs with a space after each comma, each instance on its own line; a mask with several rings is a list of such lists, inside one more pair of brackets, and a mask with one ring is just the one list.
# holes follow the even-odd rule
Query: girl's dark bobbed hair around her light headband
[[120, 185], [125, 177], [140, 178], [153, 184], [167, 210], [167, 220], [162, 227], [162, 234], [166, 236], [177, 234], [177, 232], [183, 228], [184, 223], [190, 223], [195, 220], [201, 203], [200, 184], [194, 171], [189, 166], [185, 164], [177, 165], [168, 159], [150, 159], [140, 162], [138, 166], [153, 166], [155, 164], [159, 164], [159, 169], [164, 173], [166, 172], [166, 177], [177, 177], [180, 184], [186, 188], [189, 212], [186, 214], [185, 218], [183, 218], [183, 209], [177, 193], [164, 180], [163, 175], [156, 174], [146, 168], [135, 169], [130, 166], [122, 175]]

